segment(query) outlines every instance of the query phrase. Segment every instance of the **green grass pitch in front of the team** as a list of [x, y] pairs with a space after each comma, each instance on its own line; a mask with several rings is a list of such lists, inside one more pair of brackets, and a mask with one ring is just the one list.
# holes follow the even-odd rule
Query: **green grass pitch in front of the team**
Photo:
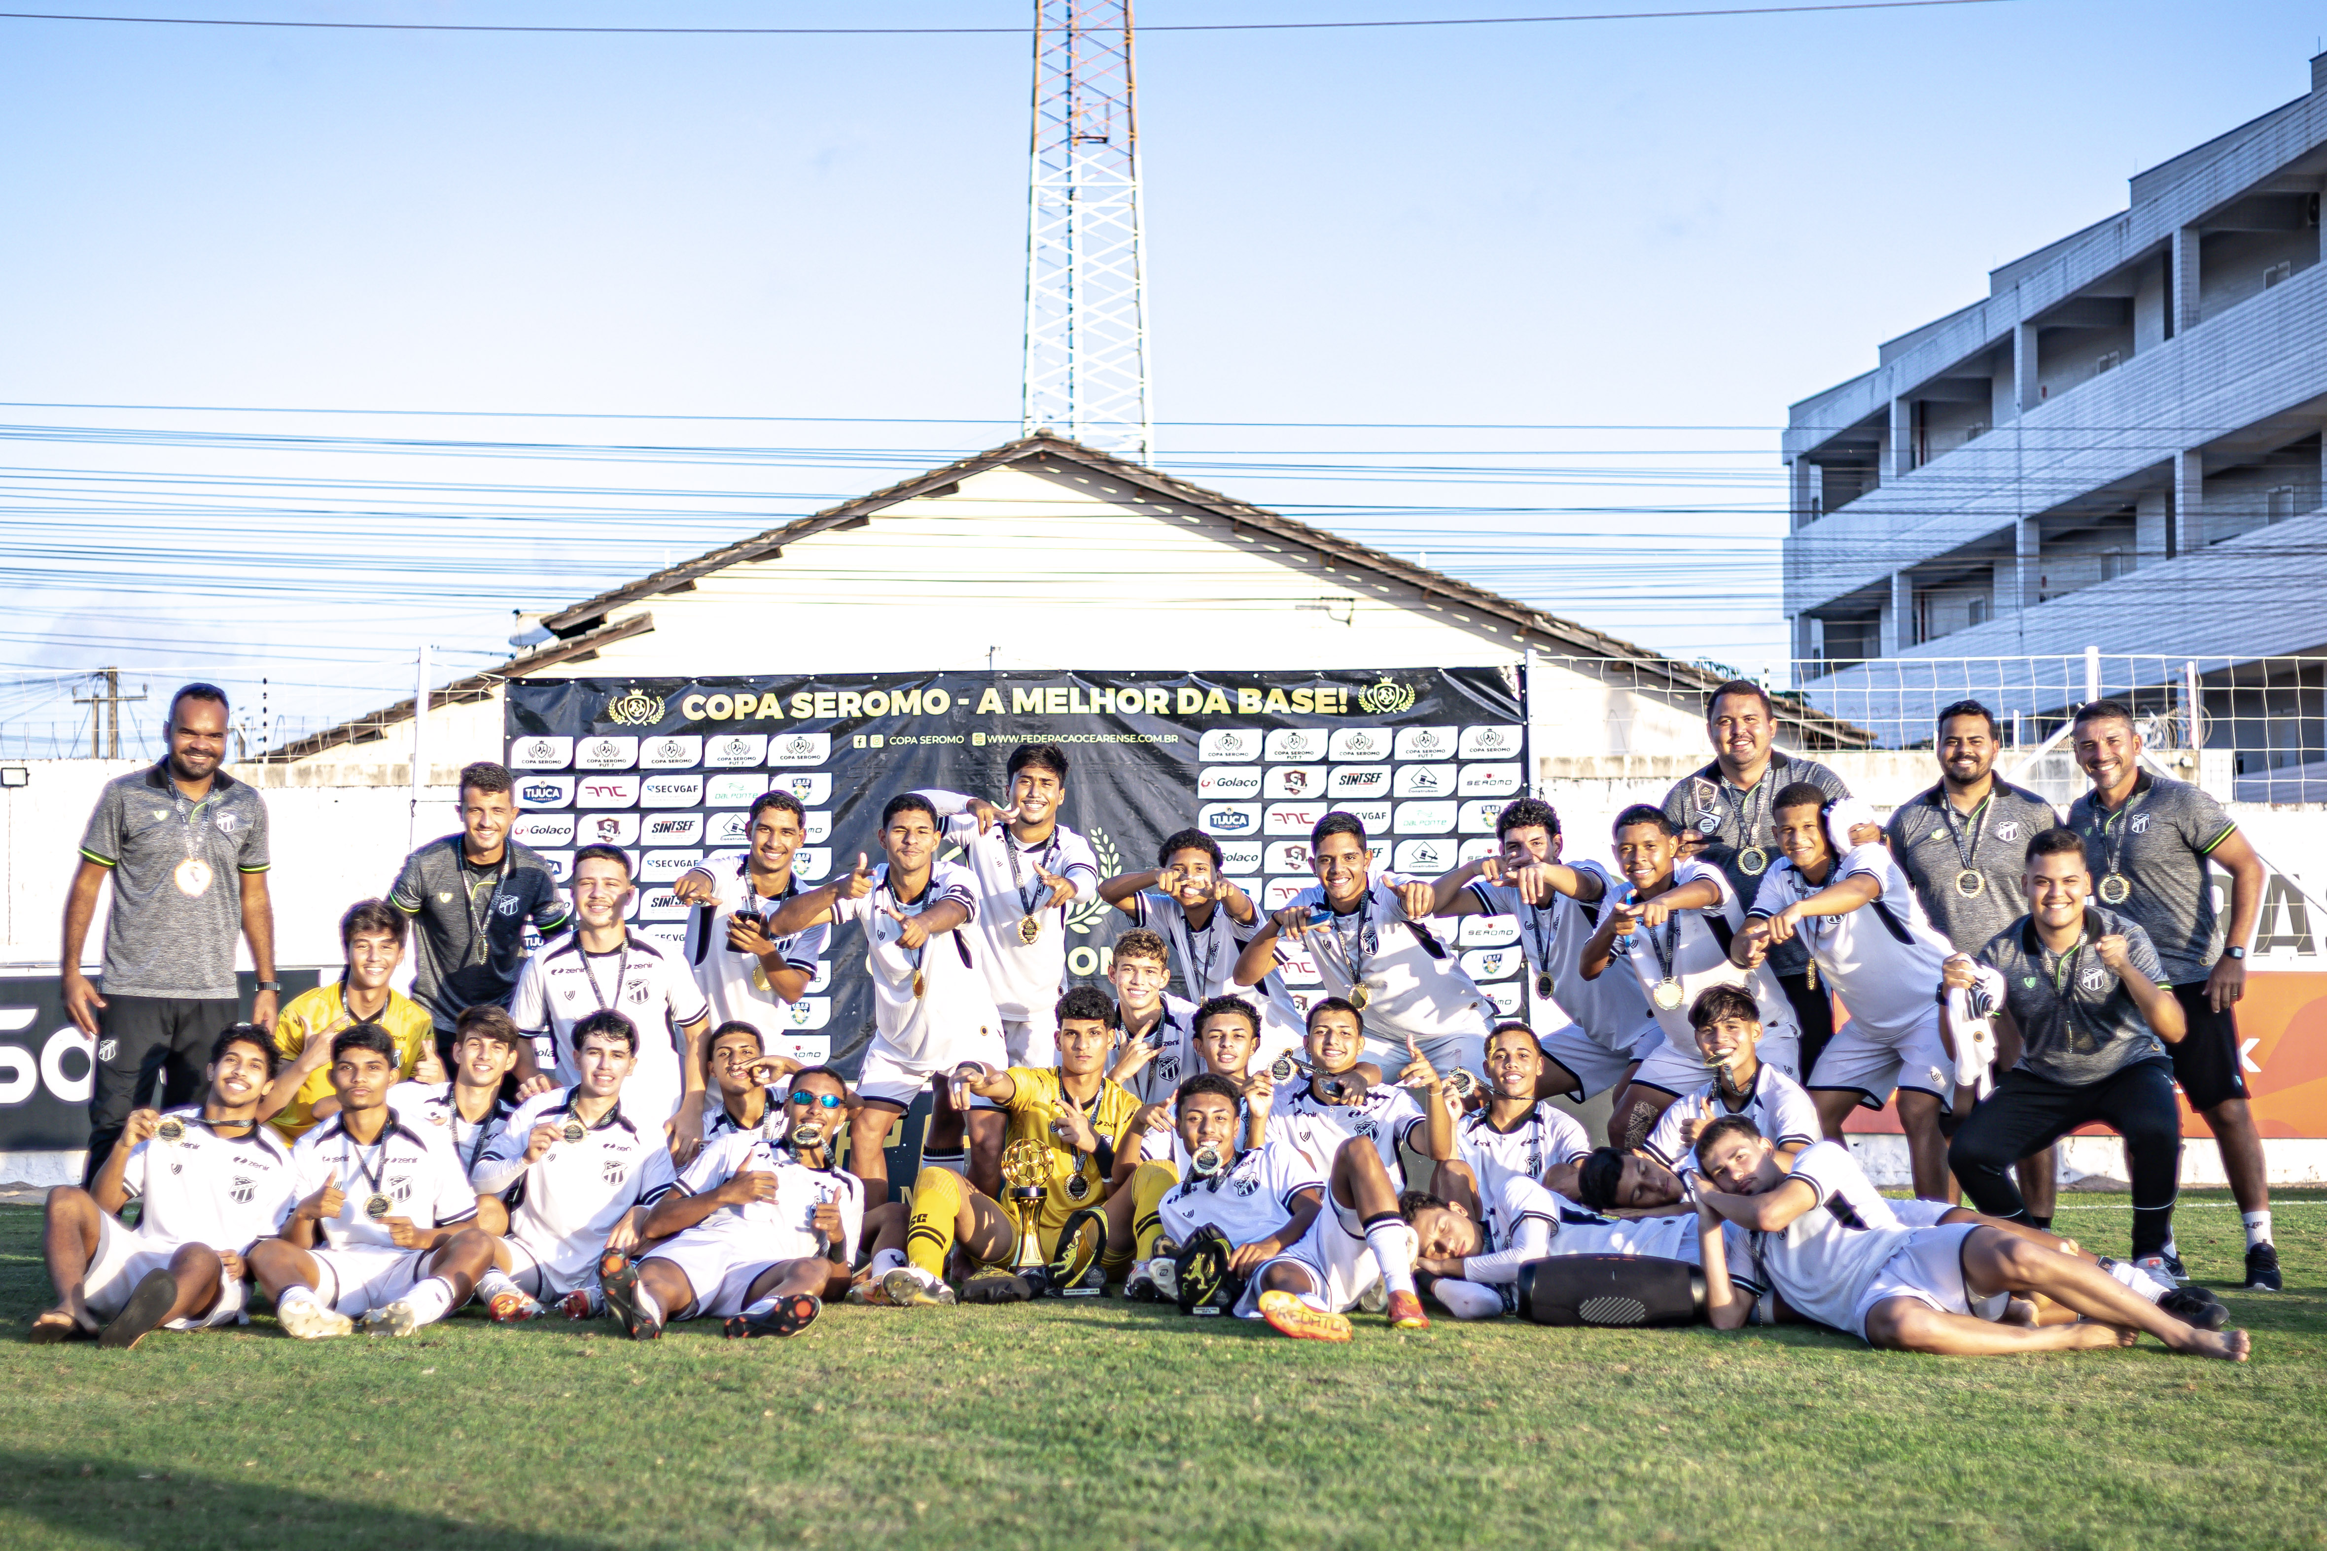
[[[2236, 1223], [2183, 1214], [2194, 1274], [2232, 1281]], [[2290, 1291], [2227, 1295], [2243, 1367], [1510, 1321], [1336, 1349], [1112, 1300], [105, 1353], [16, 1339], [47, 1279], [5, 1207], [0, 1546], [2318, 1546], [2322, 1230], [2290, 1195]]]

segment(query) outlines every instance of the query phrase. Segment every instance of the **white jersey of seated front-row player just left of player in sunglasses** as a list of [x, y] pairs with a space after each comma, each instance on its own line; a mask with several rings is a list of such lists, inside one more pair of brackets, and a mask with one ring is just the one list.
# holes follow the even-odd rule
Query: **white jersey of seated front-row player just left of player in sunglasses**
[[[661, 1121], [638, 1125], [621, 1109], [617, 1102], [579, 1142], [551, 1142], [524, 1172], [526, 1193], [510, 1212], [510, 1237], [551, 1267], [561, 1286], [589, 1274], [624, 1212], [661, 1200], [677, 1184]], [[572, 1088], [535, 1093], [486, 1149], [486, 1167], [507, 1170], [526, 1156], [535, 1125], [563, 1125], [570, 1116]]]

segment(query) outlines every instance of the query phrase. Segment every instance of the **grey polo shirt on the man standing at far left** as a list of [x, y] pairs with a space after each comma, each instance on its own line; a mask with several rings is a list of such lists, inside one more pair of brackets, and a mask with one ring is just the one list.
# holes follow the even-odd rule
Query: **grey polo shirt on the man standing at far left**
[[268, 870], [268, 805], [223, 770], [195, 802], [170, 760], [114, 777], [81, 832], [81, 856], [114, 877], [105, 995], [235, 1000], [242, 874]]

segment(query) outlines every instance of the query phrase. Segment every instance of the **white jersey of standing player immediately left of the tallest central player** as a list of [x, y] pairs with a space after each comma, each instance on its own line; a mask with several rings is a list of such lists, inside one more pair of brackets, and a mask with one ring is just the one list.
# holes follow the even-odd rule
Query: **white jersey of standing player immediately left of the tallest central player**
[[[919, 916], [945, 900], [968, 907], [970, 919], [949, 932], [938, 932], [919, 949], [898, 942], [891, 909]], [[928, 884], [910, 905], [889, 888], [889, 863], [873, 867], [873, 891], [861, 900], [833, 900], [833, 921], [866, 928], [866, 970], [873, 981], [873, 1046], [910, 1065], [945, 1056], [959, 1039], [975, 1039], [980, 1028], [1001, 1037], [1001, 1012], [980, 958], [987, 951], [977, 935], [977, 879], [968, 867], [935, 863]], [[915, 995], [915, 977], [921, 993]]]

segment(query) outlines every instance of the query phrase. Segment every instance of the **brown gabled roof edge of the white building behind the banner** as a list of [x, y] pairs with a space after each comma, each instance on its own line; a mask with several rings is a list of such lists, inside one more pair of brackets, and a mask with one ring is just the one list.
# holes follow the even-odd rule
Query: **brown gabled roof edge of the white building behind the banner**
[[[491, 693], [491, 684], [510, 677], [521, 677], [538, 672], [554, 663], [570, 663], [577, 653], [589, 653], [596, 646], [619, 639], [621, 635], [638, 635], [640, 628], [635, 619], [610, 621], [614, 609], [647, 602], [661, 593], [689, 593], [696, 581], [710, 577], [712, 572], [726, 570], [728, 565], [742, 565], [749, 560], [777, 560], [787, 544], [798, 544], [819, 533], [838, 533], [842, 528], [861, 528], [873, 521], [887, 507], [896, 507], [921, 495], [945, 493], [949, 486], [959, 486], [963, 479], [984, 474], [1001, 467], [1024, 467], [1036, 474], [1056, 474], [1068, 470], [1080, 470], [1087, 474], [1098, 474], [1110, 481], [1126, 484], [1136, 491], [1145, 491], [1154, 500], [1168, 500], [1187, 507], [1203, 509], [1212, 516], [1226, 519], [1238, 530], [1266, 533], [1268, 537], [1294, 544], [1310, 553], [1324, 556], [1338, 565], [1350, 565], [1361, 572], [1375, 574], [1380, 581], [1394, 581], [1399, 586], [1412, 588], [1426, 598], [1438, 598], [1450, 605], [1464, 607], [1485, 619], [1503, 621], [1517, 630], [1536, 637], [1533, 644], [1552, 656], [1578, 656], [1603, 660], [1613, 667], [1622, 665], [1624, 688], [1638, 688], [1652, 695], [1671, 695], [1685, 702], [1699, 702], [1713, 686], [1717, 686], [1727, 674], [1699, 667], [1694, 663], [1682, 663], [1680, 658], [1668, 658], [1659, 651], [1645, 646], [1634, 646], [1631, 642], [1617, 639], [1589, 626], [1580, 626], [1557, 614], [1545, 614], [1543, 609], [1515, 602], [1499, 593], [1471, 586], [1468, 581], [1457, 581], [1443, 572], [1433, 572], [1424, 565], [1412, 565], [1399, 556], [1357, 544], [1340, 537], [1338, 533], [1326, 533], [1324, 528], [1310, 528], [1303, 521], [1254, 507], [1250, 502], [1236, 500], [1233, 495], [1222, 495], [1219, 491], [1208, 491], [1187, 479], [1175, 479], [1161, 474], [1152, 467], [1129, 463], [1112, 453], [1103, 453], [1082, 442], [1070, 442], [1049, 430], [1038, 430], [1017, 442], [1005, 442], [982, 453], [961, 458], [959, 463], [947, 463], [945, 467], [928, 470], [926, 474], [915, 474], [912, 479], [901, 479], [870, 495], [859, 495], [856, 500], [840, 502], [838, 507], [826, 507], [814, 516], [803, 516], [784, 523], [782, 528], [768, 528], [749, 539], [738, 539], [721, 549], [696, 556], [693, 560], [682, 560], [679, 565], [666, 565], [659, 572], [628, 581], [624, 586], [610, 588], [572, 605], [570, 609], [558, 609], [542, 619], [542, 626], [551, 630], [558, 639], [554, 646], [535, 649], [510, 658], [500, 667], [486, 670], [461, 684], [440, 691], [444, 705], [458, 698], [477, 700]], [[619, 632], [619, 635], [617, 635]], [[568, 651], [577, 649], [577, 651]], [[1580, 665], [1575, 665], [1580, 667]], [[1582, 667], [1580, 667], [1582, 670]], [[1862, 728], [1855, 728], [1838, 716], [1827, 716], [1824, 712], [1794, 700], [1778, 698], [1778, 719], [1792, 730], [1794, 742], [1810, 746], [1843, 746], [1859, 749], [1873, 742]], [[382, 737], [386, 726], [405, 721], [412, 716], [412, 702], [403, 700], [393, 707], [375, 712], [372, 716], [361, 716], [351, 723], [333, 728], [328, 732], [316, 732], [314, 737], [303, 737], [298, 744], [286, 744], [284, 749], [270, 751], [265, 758], [286, 760], [305, 758], [333, 744], [370, 742]]]

